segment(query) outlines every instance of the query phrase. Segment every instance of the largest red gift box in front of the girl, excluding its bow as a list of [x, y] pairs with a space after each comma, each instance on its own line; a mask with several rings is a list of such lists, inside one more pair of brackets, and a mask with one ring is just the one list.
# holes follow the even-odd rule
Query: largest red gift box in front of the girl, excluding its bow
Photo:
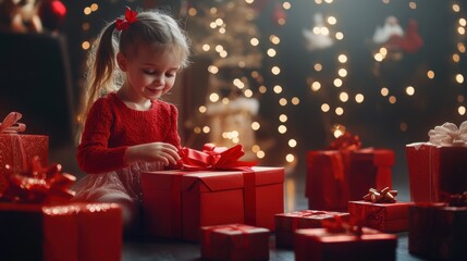
[[143, 173], [145, 231], [187, 240], [199, 240], [201, 225], [247, 223], [273, 231], [274, 214], [284, 208], [283, 182], [283, 167]]

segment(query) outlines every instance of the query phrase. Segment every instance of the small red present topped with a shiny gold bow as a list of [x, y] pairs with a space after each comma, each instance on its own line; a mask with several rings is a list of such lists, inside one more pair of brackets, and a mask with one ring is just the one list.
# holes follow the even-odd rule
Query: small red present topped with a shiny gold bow
[[373, 188], [364, 196], [364, 200], [349, 201], [351, 222], [362, 222], [362, 225], [388, 233], [408, 231], [408, 207], [413, 202], [397, 202], [396, 190], [385, 187]]

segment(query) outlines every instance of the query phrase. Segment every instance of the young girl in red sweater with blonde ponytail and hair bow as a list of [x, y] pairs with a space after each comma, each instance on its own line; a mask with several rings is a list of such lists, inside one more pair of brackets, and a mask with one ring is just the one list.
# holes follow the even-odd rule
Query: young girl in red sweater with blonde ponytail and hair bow
[[125, 228], [138, 224], [140, 172], [180, 160], [177, 110], [159, 98], [187, 65], [184, 32], [168, 14], [136, 13], [108, 24], [95, 41], [84, 99], [85, 126], [77, 151], [88, 175], [74, 201], [116, 202]]

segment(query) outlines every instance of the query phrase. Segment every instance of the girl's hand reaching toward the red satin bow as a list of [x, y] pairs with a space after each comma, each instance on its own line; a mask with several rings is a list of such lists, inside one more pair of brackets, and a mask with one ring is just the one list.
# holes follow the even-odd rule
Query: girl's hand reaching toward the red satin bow
[[180, 156], [179, 150], [171, 144], [151, 142], [127, 148], [125, 159], [128, 164], [135, 161], [160, 161], [164, 165], [176, 165], [176, 162], [180, 160]]

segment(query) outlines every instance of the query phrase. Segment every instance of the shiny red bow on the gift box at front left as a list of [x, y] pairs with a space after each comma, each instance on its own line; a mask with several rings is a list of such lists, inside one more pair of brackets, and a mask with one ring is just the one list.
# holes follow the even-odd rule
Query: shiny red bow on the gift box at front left
[[39, 157], [30, 160], [29, 169], [21, 173], [12, 173], [7, 165], [7, 189], [0, 194], [0, 200], [19, 203], [62, 203], [67, 202], [74, 192], [70, 187], [76, 177], [62, 173], [60, 164], [42, 167]]

